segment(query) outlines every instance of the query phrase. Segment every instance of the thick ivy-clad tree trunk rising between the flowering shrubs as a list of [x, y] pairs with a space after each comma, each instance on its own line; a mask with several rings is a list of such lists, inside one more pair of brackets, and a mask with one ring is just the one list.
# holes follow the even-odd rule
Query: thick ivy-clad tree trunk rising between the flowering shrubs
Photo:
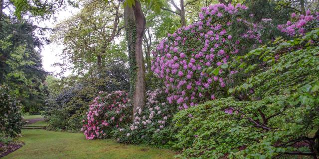
[[130, 96], [133, 96], [133, 119], [137, 107], [144, 107], [146, 96], [145, 66], [142, 49], [145, 16], [141, 3], [135, 0], [133, 8], [124, 9], [126, 38], [128, 42], [130, 64]]

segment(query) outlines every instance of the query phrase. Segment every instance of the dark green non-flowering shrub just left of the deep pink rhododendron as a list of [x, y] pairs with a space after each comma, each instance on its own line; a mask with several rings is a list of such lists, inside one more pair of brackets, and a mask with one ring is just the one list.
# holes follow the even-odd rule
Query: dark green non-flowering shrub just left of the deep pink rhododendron
[[83, 115], [96, 93], [94, 87], [76, 84], [64, 88], [57, 95], [51, 94], [44, 108], [49, 129], [79, 131]]

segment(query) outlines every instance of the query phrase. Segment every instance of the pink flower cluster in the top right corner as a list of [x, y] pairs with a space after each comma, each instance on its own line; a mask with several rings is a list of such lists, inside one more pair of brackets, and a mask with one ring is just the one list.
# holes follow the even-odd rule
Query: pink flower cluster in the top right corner
[[[286, 24], [278, 25], [277, 28], [286, 33], [289, 36], [295, 35], [304, 35], [307, 32], [307, 24], [316, 20], [319, 21], [319, 12], [317, 11], [315, 14], [311, 14], [310, 10], [306, 11], [306, 15], [297, 16], [296, 13], [292, 13], [291, 15], [292, 21], [287, 21]], [[315, 26], [319, 27], [319, 26]]]

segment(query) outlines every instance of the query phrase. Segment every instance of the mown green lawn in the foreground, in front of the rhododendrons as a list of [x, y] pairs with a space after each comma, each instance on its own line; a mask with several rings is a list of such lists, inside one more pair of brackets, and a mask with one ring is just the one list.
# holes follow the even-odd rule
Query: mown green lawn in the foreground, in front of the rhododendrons
[[172, 159], [174, 152], [113, 140], [86, 140], [83, 134], [22, 130], [25, 145], [3, 159]]

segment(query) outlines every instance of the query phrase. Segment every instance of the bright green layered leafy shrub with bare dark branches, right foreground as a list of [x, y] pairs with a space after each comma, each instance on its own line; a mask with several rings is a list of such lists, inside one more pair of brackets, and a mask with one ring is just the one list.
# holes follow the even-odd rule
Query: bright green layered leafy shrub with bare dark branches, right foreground
[[174, 115], [174, 147], [186, 158], [318, 156], [318, 37], [316, 29], [234, 58], [229, 69], [250, 77], [228, 90], [233, 97]]

